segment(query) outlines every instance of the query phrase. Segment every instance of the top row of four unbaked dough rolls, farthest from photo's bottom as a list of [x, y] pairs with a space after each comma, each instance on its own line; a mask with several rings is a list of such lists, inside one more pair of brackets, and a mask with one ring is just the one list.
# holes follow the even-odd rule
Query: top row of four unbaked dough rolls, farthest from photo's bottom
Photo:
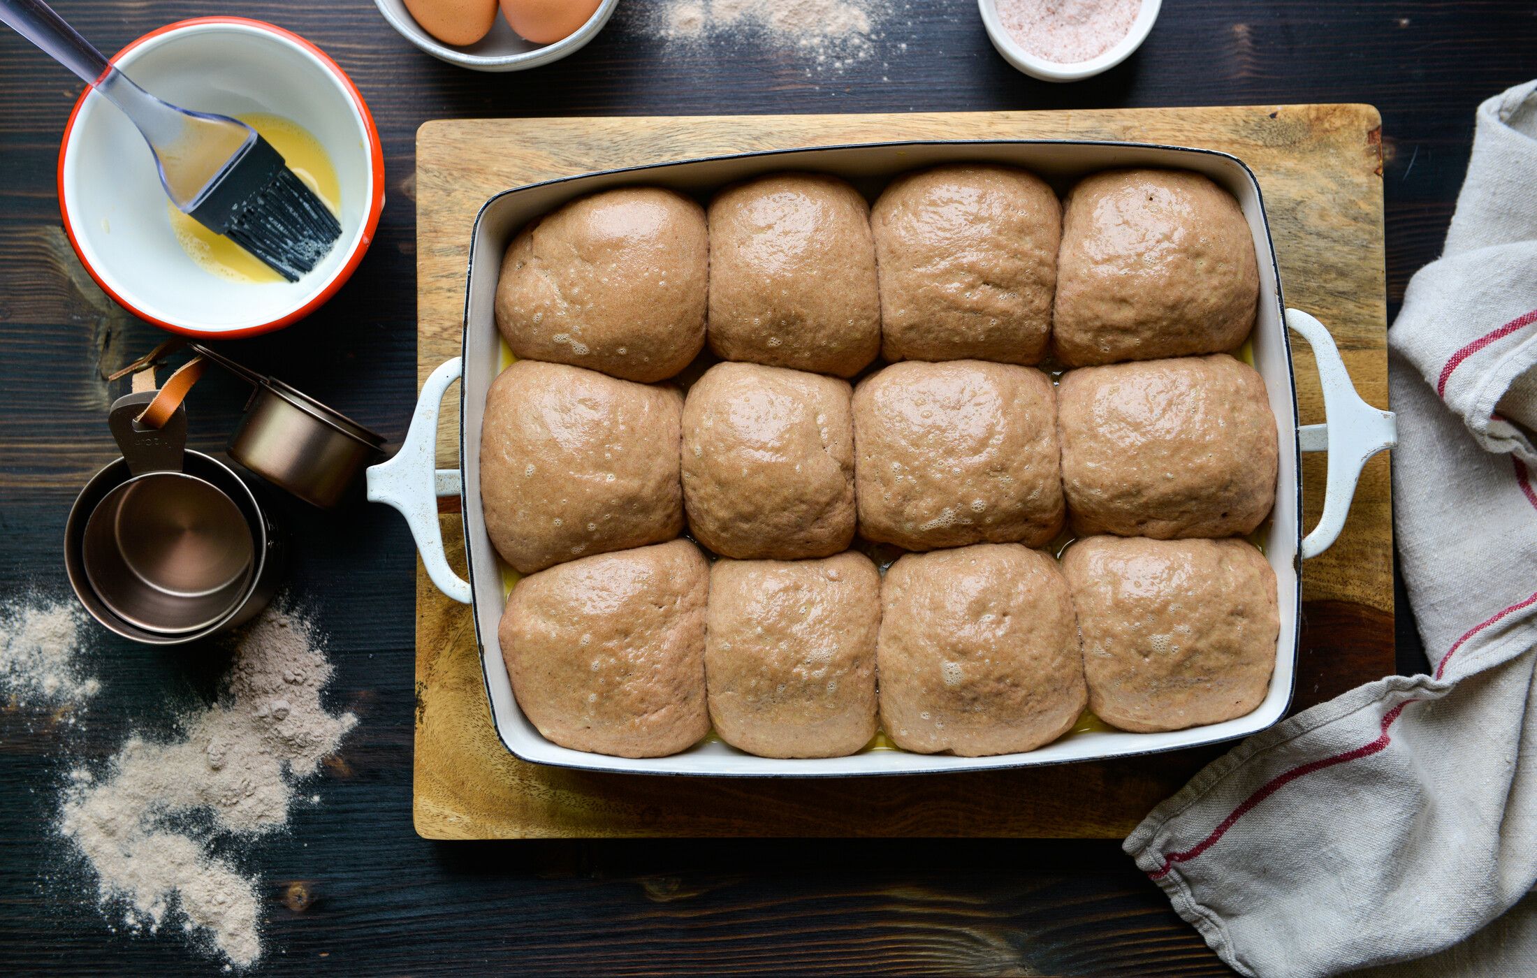
[[827, 174], [738, 183], [709, 209], [633, 186], [507, 248], [496, 324], [521, 358], [636, 381], [722, 360], [853, 377], [878, 355], [1064, 366], [1236, 349], [1259, 271], [1239, 203], [1188, 171], [1039, 177], [947, 165], [873, 208]]

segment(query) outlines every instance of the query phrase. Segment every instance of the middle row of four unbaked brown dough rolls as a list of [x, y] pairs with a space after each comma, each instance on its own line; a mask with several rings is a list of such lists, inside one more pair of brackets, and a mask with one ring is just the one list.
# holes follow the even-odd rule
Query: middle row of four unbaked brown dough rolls
[[486, 529], [521, 574], [678, 537], [738, 560], [1253, 532], [1276, 494], [1265, 384], [1225, 354], [1079, 368], [890, 364], [858, 388], [718, 363], [689, 388], [520, 360], [481, 432]]

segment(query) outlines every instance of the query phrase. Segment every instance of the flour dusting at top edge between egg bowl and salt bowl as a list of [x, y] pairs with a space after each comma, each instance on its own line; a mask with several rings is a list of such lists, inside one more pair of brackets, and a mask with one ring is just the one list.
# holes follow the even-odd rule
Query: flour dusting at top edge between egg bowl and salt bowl
[[670, 42], [739, 40], [842, 69], [875, 54], [899, 0], [662, 0], [653, 29]]

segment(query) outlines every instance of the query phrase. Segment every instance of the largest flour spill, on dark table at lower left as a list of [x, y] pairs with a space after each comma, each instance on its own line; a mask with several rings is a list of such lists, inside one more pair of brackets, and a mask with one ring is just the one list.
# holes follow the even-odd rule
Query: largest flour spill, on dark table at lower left
[[134, 932], [175, 921], [235, 967], [261, 956], [258, 881], [214, 857], [211, 838], [287, 823], [298, 781], [357, 723], [321, 704], [330, 674], [314, 627], [269, 609], [237, 637], [226, 695], [186, 717], [180, 740], [134, 735], [100, 777], [71, 772], [57, 829], [95, 872], [108, 913]]

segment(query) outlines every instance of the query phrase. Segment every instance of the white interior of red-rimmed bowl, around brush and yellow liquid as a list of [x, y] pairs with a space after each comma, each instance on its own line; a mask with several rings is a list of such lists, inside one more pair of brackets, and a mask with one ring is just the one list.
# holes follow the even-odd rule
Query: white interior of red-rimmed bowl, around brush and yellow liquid
[[75, 244], [134, 311], [218, 334], [280, 320], [312, 301], [357, 249], [373, 197], [367, 126], [341, 78], [294, 40], [251, 25], [189, 25], [118, 60], [160, 98], [221, 115], [294, 120], [326, 148], [341, 186], [341, 240], [295, 283], [237, 283], [177, 243], [155, 161], [134, 123], [91, 92], [65, 148], [63, 206]]

